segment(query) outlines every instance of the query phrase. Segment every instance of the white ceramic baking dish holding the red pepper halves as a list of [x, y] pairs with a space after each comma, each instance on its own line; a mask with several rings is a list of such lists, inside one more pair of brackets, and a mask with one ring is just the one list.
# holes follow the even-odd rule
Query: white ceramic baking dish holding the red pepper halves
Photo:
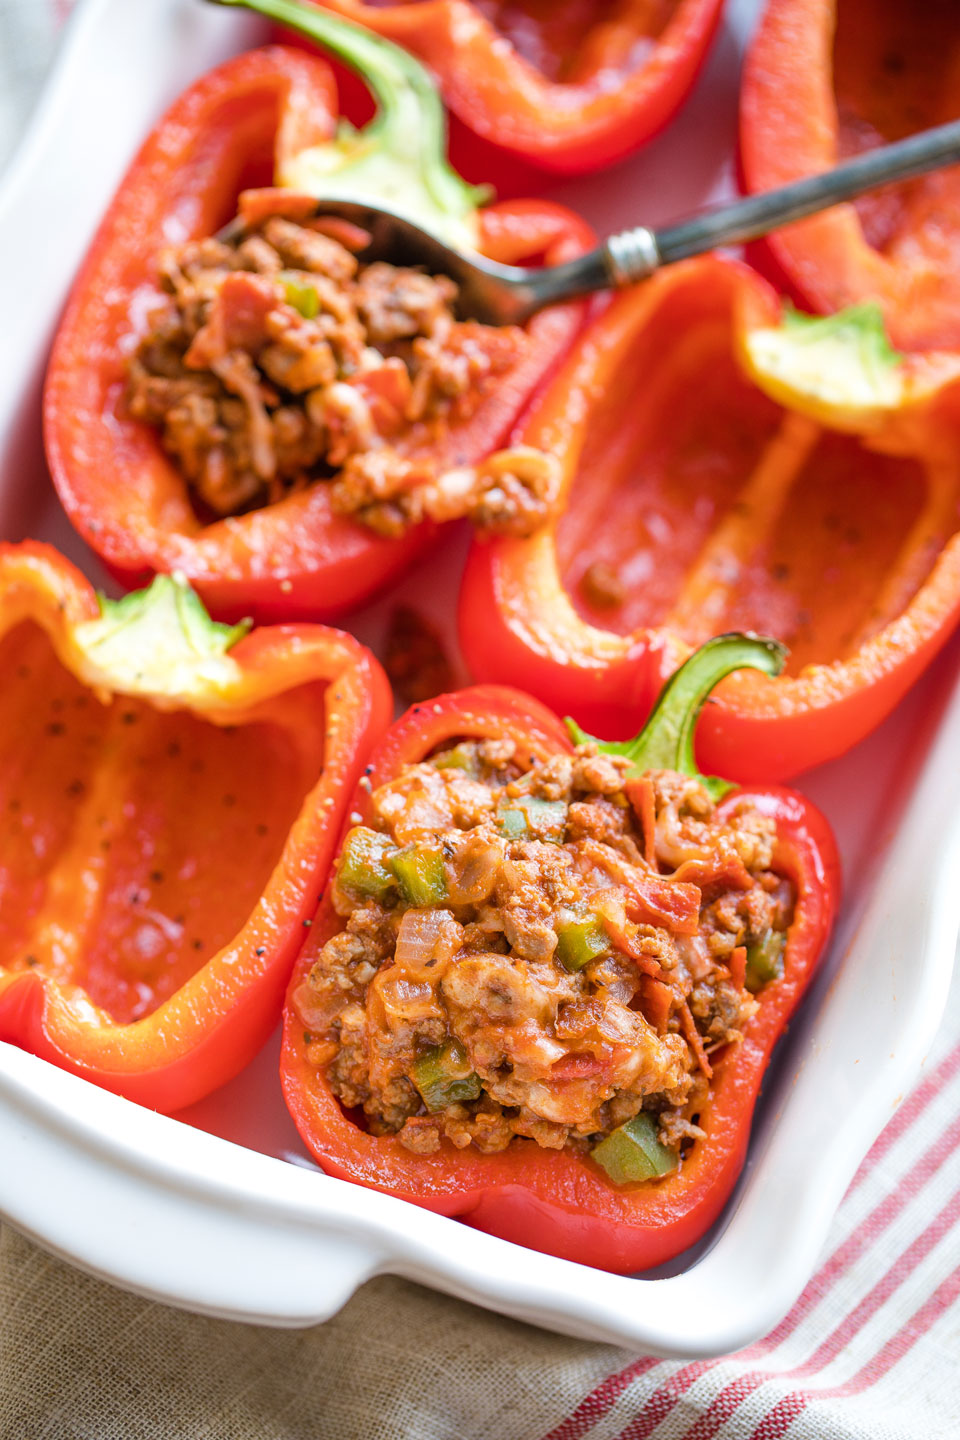
[[[738, 59], [754, 9], [751, 0], [730, 6], [708, 73], [668, 135], [615, 174], [551, 193], [604, 230], [725, 193]], [[0, 533], [50, 539], [95, 579], [42, 461], [49, 337], [153, 118], [261, 33], [197, 0], [83, 0], [0, 190]], [[432, 566], [435, 602], [456, 567], [455, 549]], [[404, 589], [417, 585], [415, 577]], [[357, 618], [364, 638], [376, 639], [379, 618], [376, 606]], [[366, 1279], [390, 1272], [551, 1329], [664, 1355], [750, 1342], [809, 1277], [846, 1184], [943, 1012], [960, 874], [959, 667], [953, 644], [882, 730], [805, 780], [839, 835], [842, 922], [769, 1074], [734, 1198], [697, 1251], [656, 1276], [609, 1276], [534, 1254], [321, 1175], [284, 1109], [275, 1043], [177, 1119], [0, 1045], [0, 1214], [118, 1284], [236, 1319], [321, 1320]]]

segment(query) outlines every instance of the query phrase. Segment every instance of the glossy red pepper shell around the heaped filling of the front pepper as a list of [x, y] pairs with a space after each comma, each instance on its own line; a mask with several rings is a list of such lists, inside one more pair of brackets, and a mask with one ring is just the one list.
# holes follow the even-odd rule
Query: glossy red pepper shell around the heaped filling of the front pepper
[[[512, 739], [518, 756], [531, 760], [570, 750], [564, 727], [535, 700], [476, 685], [409, 710], [374, 752], [370, 788], [458, 737]], [[776, 865], [796, 884], [796, 913], [783, 975], [766, 988], [743, 1043], [717, 1063], [698, 1122], [707, 1138], [679, 1171], [656, 1184], [619, 1188], [589, 1158], [545, 1151], [534, 1140], [514, 1139], [501, 1153], [482, 1155], [445, 1139], [433, 1155], [412, 1155], [396, 1136], [360, 1129], [309, 1064], [291, 1002], [324, 942], [343, 926], [330, 901], [321, 906], [294, 971], [281, 1060], [286, 1104], [324, 1171], [603, 1270], [649, 1269], [694, 1244], [718, 1217], [743, 1168], [764, 1068], [823, 952], [838, 896], [836, 851], [823, 816], [803, 796], [776, 788], [733, 791], [721, 808], [743, 798], [776, 819]], [[370, 789], [357, 792], [353, 808], [368, 819]]]

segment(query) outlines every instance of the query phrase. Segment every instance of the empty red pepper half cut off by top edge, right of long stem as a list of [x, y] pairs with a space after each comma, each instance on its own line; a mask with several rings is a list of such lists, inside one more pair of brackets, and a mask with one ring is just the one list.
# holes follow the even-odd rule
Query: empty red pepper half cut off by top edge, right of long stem
[[495, 6], [508, 13], [494, 14], [471, 0], [325, 0], [324, 9], [419, 55], [484, 140], [581, 174], [622, 160], [668, 122], [707, 58], [723, 0], [628, 4], [604, 19], [579, 0]]

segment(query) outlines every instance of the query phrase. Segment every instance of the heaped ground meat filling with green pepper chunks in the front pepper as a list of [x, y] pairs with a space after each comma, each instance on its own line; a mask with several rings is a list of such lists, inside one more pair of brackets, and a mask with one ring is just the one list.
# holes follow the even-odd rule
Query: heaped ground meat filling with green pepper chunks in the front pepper
[[345, 924], [294, 996], [373, 1133], [586, 1151], [646, 1110], [674, 1152], [702, 1135], [794, 891], [747, 801], [720, 816], [698, 780], [628, 768], [581, 746], [524, 770], [512, 742], [463, 740], [373, 793], [337, 863]]

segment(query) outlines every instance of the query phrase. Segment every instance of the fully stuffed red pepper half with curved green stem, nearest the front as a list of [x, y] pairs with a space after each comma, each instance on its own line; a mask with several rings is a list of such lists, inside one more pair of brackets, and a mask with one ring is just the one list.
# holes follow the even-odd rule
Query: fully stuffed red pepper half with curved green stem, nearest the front
[[629, 743], [482, 685], [390, 730], [286, 1004], [325, 1171], [609, 1270], [704, 1234], [836, 904], [800, 795], [694, 765], [717, 680], [780, 664], [711, 641]]

